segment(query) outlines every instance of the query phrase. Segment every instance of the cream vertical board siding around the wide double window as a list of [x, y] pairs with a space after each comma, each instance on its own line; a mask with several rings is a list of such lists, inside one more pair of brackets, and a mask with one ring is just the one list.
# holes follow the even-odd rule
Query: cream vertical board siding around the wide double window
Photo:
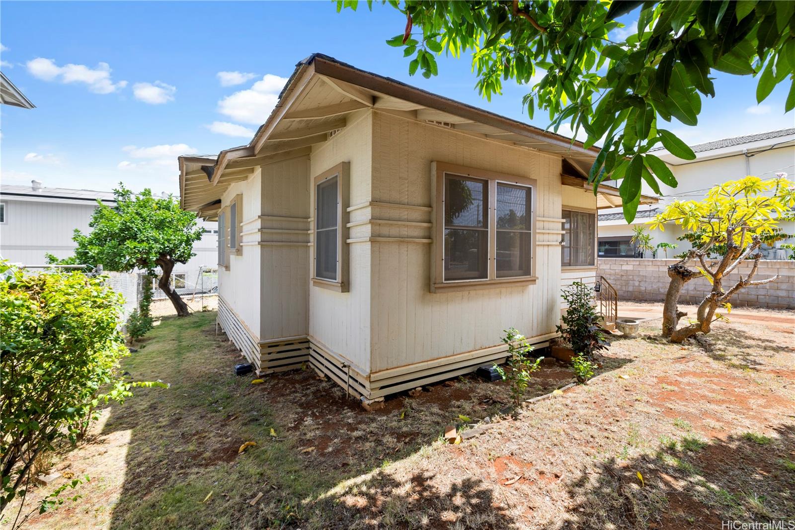
[[[559, 158], [374, 113], [372, 201], [434, 206], [433, 161], [537, 179], [537, 216], [560, 217]], [[409, 220], [408, 210], [402, 215]], [[432, 219], [432, 212], [424, 219], [411, 215]], [[553, 227], [539, 222], [536, 228]], [[388, 233], [422, 233], [409, 230]], [[548, 234], [535, 236], [549, 240]], [[558, 322], [560, 246], [537, 245], [535, 285], [448, 293], [429, 290], [431, 245], [386, 241], [371, 247], [371, 372], [498, 345], [510, 326], [528, 337], [543, 335]]]

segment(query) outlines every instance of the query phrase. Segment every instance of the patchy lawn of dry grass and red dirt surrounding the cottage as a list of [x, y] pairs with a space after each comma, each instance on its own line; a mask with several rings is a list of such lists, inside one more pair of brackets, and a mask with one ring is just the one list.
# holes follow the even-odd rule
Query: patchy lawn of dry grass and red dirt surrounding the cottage
[[[214, 319], [149, 333], [125, 367], [171, 388], [138, 390], [59, 455], [55, 470], [91, 482], [29, 528], [719, 528], [795, 514], [791, 333], [720, 322], [680, 346], [646, 322], [591, 383], [510, 419], [505, 385], [474, 377], [374, 413], [311, 369], [251, 384], [231, 375], [239, 356]], [[528, 397], [572, 380], [556, 364], [536, 375]], [[460, 415], [495, 424], [444, 444]]]

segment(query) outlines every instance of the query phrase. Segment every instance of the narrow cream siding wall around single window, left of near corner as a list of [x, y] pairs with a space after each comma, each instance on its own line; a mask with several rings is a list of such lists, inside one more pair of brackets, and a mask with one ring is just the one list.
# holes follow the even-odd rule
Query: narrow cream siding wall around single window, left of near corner
[[[310, 179], [339, 162], [349, 162], [348, 205], [355, 206], [371, 200], [372, 115], [370, 111], [355, 112], [348, 117], [347, 123], [347, 127], [328, 142], [312, 148]], [[312, 187], [308, 197], [312, 211], [313, 204]], [[370, 209], [351, 212], [348, 222], [370, 219]], [[369, 233], [368, 229], [366, 225], [350, 228], [347, 238], [360, 237], [362, 233]], [[349, 256], [349, 292], [309, 286], [308, 334], [367, 373], [370, 370], [370, 243], [343, 244], [340, 250], [347, 251]], [[311, 251], [309, 255], [312, 267]], [[309, 275], [305, 279], [308, 283]]]

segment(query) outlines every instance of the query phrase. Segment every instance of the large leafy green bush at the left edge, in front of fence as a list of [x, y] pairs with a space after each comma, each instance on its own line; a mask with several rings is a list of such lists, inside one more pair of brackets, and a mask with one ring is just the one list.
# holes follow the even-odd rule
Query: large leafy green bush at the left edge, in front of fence
[[104, 283], [82, 272], [23, 275], [0, 262], [0, 512], [25, 495], [38, 455], [76, 443], [101, 401], [155, 385], [122, 380], [121, 297]]

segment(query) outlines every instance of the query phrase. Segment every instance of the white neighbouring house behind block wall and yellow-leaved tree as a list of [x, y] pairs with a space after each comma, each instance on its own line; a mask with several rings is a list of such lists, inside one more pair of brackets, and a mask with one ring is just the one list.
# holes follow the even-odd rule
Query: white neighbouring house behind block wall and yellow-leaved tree
[[[691, 146], [691, 149], [696, 153], [696, 160], [682, 160], [663, 149], [653, 150], [653, 154], [668, 164], [679, 185], [671, 188], [660, 184], [660, 202], [638, 206], [633, 224], [626, 224], [621, 208], [599, 211], [599, 258], [641, 257], [630, 244], [633, 228], [650, 221], [672, 201], [697, 201], [713, 186], [747, 175], [770, 178], [778, 172], [795, 173], [795, 128], [723, 138]], [[607, 184], [617, 185], [612, 181]], [[642, 193], [654, 195], [646, 182], [643, 182]], [[780, 227], [784, 232], [795, 233], [793, 221], [782, 223]], [[668, 251], [669, 258], [690, 248], [687, 241], [677, 240], [683, 231], [673, 223], [666, 224], [664, 232], [652, 230], [649, 233], [655, 246], [663, 242], [678, 245], [676, 250]], [[762, 252], [767, 259], [786, 259], [789, 251], [780, 245], [793, 242], [795, 239], [780, 241], [772, 248], [763, 245]], [[652, 257], [651, 253], [647, 251], [645, 257]], [[665, 258], [665, 253], [657, 251], [654, 257]]]

